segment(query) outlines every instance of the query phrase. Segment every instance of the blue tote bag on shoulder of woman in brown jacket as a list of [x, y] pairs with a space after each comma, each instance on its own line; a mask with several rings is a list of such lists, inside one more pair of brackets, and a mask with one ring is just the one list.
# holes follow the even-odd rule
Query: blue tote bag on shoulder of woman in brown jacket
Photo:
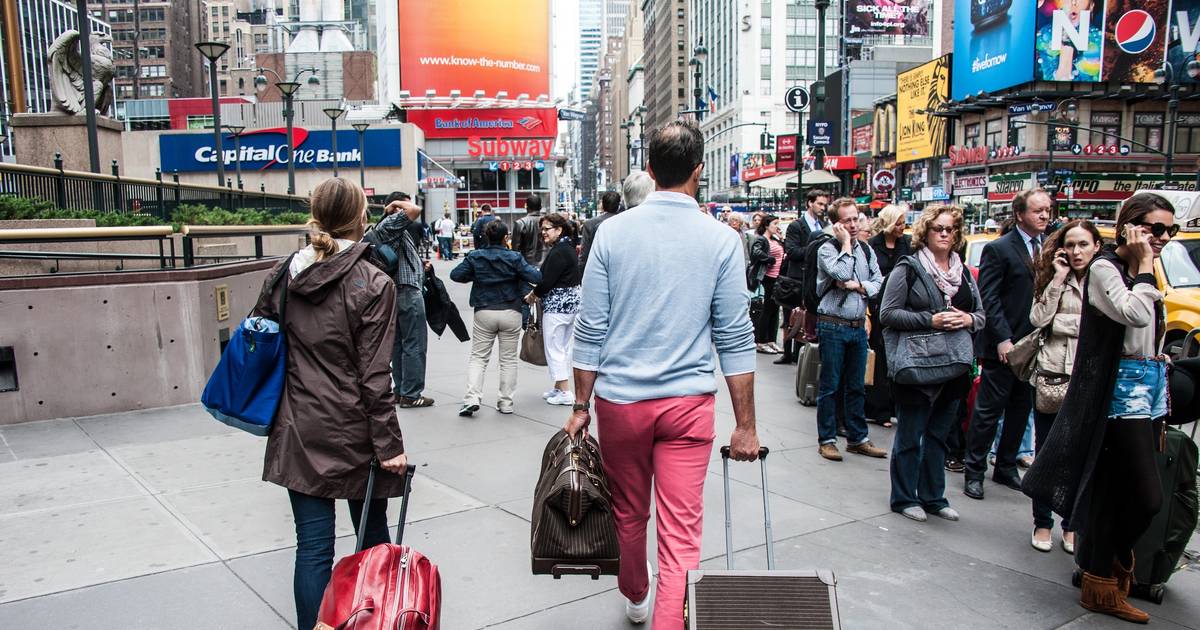
[[275, 412], [283, 397], [288, 358], [283, 323], [288, 307], [290, 266], [292, 257], [288, 257], [271, 281], [272, 292], [283, 281], [280, 320], [272, 322], [265, 317], [244, 319], [226, 344], [221, 362], [200, 395], [200, 404], [212, 418], [254, 436], [266, 436], [271, 431]]

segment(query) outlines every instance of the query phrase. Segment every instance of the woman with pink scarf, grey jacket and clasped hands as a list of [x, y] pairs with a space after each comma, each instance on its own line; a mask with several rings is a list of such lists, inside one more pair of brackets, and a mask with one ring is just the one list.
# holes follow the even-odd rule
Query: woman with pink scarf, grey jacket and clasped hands
[[[971, 335], [983, 329], [985, 314], [979, 288], [959, 258], [962, 210], [931, 205], [912, 229], [914, 254], [896, 263], [888, 276], [880, 320], [888, 347], [896, 352], [905, 340], [941, 336], [947, 365], [961, 365], [956, 376], [896, 388], [900, 427], [892, 443], [892, 510], [913, 521], [934, 514], [958, 521], [946, 500], [946, 437], [959, 401], [971, 388]], [[954, 350], [965, 349], [966, 361]], [[895, 356], [899, 359], [899, 356]]]

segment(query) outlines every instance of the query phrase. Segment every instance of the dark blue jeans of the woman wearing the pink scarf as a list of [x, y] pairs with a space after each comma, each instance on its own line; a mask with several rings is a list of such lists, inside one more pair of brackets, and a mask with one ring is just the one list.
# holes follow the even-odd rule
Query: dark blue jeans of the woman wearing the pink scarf
[[959, 401], [943, 390], [937, 398], [896, 402], [892, 443], [892, 510], [920, 505], [937, 511], [946, 500], [946, 438], [958, 421]]

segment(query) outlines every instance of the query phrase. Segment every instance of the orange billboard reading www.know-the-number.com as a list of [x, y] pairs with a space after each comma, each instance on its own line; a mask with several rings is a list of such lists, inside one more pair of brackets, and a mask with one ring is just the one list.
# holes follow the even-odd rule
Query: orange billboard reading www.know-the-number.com
[[400, 89], [550, 94], [550, 0], [397, 2]]

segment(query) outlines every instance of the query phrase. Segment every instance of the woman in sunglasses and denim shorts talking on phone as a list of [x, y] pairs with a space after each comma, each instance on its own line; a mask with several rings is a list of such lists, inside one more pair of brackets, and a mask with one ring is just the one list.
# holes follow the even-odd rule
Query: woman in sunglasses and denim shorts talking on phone
[[1117, 215], [1117, 245], [1092, 262], [1070, 385], [1022, 490], [1069, 518], [1080, 541], [1079, 604], [1134, 623], [1133, 546], [1163, 504], [1154, 466], [1168, 415], [1163, 295], [1154, 258], [1178, 233], [1165, 198], [1139, 193]]

